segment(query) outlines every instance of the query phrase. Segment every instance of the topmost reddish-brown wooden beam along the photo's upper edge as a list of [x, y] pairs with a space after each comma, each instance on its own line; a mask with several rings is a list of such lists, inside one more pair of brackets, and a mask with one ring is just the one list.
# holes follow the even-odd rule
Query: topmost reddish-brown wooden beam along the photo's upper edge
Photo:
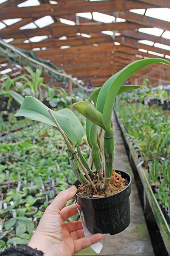
[[[105, 12], [105, 11], [125, 11], [129, 9], [141, 9], [141, 8], [152, 8], [153, 5], [141, 3], [133, 0], [111, 0], [111, 1], [100, 1], [90, 2], [90, 1], [65, 1], [63, 3], [58, 3], [57, 5], [42, 4], [39, 6], [29, 6], [29, 7], [5, 7], [0, 8], [1, 19], [11, 19], [11, 18], [41, 18], [46, 15], [51, 16], [61, 16], [61, 15], [71, 15], [83, 12]], [[12, 15], [11, 15], [12, 14]]]

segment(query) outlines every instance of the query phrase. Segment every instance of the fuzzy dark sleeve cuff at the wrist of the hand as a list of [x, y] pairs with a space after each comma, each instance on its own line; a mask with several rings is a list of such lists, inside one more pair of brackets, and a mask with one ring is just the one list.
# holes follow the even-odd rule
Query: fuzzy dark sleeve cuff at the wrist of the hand
[[11, 246], [6, 248], [0, 256], [42, 256], [44, 255], [42, 251], [38, 251], [28, 245], [20, 245], [19, 247]]

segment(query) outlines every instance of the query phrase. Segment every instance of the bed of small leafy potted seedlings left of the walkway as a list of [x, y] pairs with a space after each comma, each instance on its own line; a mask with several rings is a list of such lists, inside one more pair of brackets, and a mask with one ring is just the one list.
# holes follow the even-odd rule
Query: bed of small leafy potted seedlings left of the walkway
[[[52, 127], [34, 122], [0, 143], [0, 247], [5, 248], [28, 243], [48, 204], [75, 177], [62, 136]], [[80, 147], [87, 158], [84, 137]]]

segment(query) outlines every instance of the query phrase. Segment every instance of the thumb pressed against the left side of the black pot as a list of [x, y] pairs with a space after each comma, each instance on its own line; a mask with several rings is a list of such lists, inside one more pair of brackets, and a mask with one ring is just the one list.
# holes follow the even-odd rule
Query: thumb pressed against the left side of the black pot
[[48, 212], [60, 213], [60, 211], [65, 207], [66, 202], [74, 197], [77, 192], [77, 188], [72, 186], [62, 192], [60, 192], [53, 202], [47, 207]]

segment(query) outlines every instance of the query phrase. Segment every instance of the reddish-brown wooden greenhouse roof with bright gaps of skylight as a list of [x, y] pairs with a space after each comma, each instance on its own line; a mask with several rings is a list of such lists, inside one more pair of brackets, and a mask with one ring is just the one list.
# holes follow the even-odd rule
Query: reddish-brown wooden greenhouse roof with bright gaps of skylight
[[[0, 38], [101, 86], [131, 61], [170, 59], [170, 1], [0, 0]], [[1, 74], [20, 71], [0, 63]], [[154, 64], [133, 79], [147, 75], [158, 85], [170, 81], [169, 71]]]

